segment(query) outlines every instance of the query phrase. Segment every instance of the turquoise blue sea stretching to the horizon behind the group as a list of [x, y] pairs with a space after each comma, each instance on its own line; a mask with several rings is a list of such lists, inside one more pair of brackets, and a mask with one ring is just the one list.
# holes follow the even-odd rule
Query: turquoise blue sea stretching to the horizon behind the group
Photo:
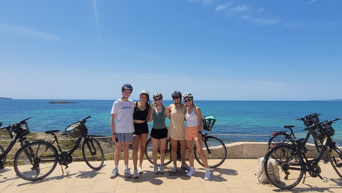
[[[64, 130], [66, 126], [91, 115], [86, 125], [89, 134], [110, 136], [110, 111], [114, 100], [66, 100], [77, 104], [49, 104], [55, 100], [0, 100], [0, 122], [10, 124], [27, 117], [30, 131]], [[163, 101], [168, 106], [172, 101]], [[203, 116], [212, 115], [217, 121], [212, 133], [266, 134], [294, 125], [295, 133], [305, 133], [303, 115], [321, 113], [320, 120], [342, 117], [342, 102], [326, 101], [195, 101]], [[167, 125], [169, 119], [166, 119]], [[149, 123], [152, 128], [152, 123]], [[342, 120], [332, 125], [342, 132]], [[225, 143], [237, 141], [267, 141], [267, 136], [218, 136]], [[300, 136], [298, 136], [300, 137]], [[303, 136], [304, 137], [304, 136]], [[342, 142], [342, 133], [334, 135]]]

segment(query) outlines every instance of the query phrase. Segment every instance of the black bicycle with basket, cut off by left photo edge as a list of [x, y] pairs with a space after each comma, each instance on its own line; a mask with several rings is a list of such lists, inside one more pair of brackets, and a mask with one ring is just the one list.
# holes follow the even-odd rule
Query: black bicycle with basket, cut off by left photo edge
[[[20, 142], [20, 146], [23, 147], [25, 143], [27, 142], [27, 138], [25, 137], [27, 134], [30, 133], [30, 130], [28, 129], [26, 121], [30, 119], [31, 117], [24, 119], [20, 121], [19, 123], [13, 123], [7, 127], [0, 128], [0, 130], [6, 129], [10, 137], [12, 138], [11, 143], [6, 148], [6, 150], [3, 149], [3, 147], [0, 145], [0, 169], [4, 169], [4, 165], [6, 163], [6, 156], [8, 153], [12, 150], [14, 144], [18, 140]], [[2, 123], [0, 122], [0, 127], [2, 126]]]

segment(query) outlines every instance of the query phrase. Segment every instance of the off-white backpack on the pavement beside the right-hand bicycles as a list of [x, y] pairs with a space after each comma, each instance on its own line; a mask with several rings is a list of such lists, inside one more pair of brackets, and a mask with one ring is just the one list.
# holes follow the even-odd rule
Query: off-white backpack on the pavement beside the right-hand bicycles
[[[271, 177], [272, 181], [277, 182], [280, 180], [279, 177], [279, 167], [277, 165], [277, 162], [275, 159], [269, 158], [268, 159], [269, 164], [268, 164], [268, 174], [269, 177]], [[257, 169], [257, 173], [255, 174], [255, 176], [257, 176], [258, 181], [257, 184], [260, 183], [269, 183], [266, 174], [265, 174], [265, 168], [264, 168], [264, 164], [265, 163], [265, 159], [264, 157], [260, 157], [258, 159], [258, 169]]]

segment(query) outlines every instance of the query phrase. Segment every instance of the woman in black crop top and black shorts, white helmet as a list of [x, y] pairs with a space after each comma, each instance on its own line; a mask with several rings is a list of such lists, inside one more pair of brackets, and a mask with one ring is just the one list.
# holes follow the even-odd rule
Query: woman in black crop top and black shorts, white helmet
[[[149, 93], [147, 90], [142, 90], [140, 92], [140, 101], [134, 102], [134, 113], [133, 113], [133, 124], [134, 124], [134, 132], [133, 132], [133, 178], [139, 177], [139, 174], [144, 173], [141, 164], [144, 160], [145, 156], [145, 144], [148, 136], [148, 126], [147, 126], [147, 117], [148, 112], [151, 106], [149, 104]], [[139, 142], [140, 142], [140, 156], [139, 156], [139, 167], [137, 167], [138, 162], [138, 151], [139, 151]]]

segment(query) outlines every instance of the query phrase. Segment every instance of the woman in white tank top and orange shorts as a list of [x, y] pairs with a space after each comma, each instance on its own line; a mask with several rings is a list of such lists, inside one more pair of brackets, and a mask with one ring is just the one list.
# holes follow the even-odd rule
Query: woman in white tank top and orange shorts
[[190, 171], [186, 174], [186, 176], [192, 176], [196, 174], [194, 167], [194, 142], [196, 144], [197, 152], [201, 157], [201, 160], [206, 167], [206, 174], [204, 176], [205, 180], [210, 180], [210, 170], [208, 166], [208, 161], [206, 155], [203, 153], [202, 147], [202, 112], [198, 106], [194, 104], [194, 97], [190, 92], [186, 92], [183, 94], [184, 104], [186, 105], [185, 109], [185, 119], [186, 119], [186, 129], [185, 129], [185, 139], [186, 146], [188, 147], [189, 152], [189, 163], [190, 163]]

